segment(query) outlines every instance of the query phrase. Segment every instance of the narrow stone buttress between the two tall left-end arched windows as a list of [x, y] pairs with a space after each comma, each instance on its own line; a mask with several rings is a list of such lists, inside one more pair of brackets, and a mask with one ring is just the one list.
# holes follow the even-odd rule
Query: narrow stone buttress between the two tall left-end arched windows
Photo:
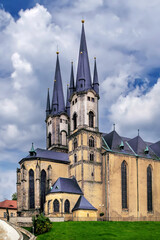
[[35, 208], [40, 209], [40, 166], [36, 166], [36, 180], [35, 180]]

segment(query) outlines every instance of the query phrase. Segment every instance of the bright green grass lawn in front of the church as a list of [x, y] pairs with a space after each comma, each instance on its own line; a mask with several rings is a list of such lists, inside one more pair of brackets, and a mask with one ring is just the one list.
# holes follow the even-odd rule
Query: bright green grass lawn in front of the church
[[158, 240], [160, 222], [56, 222], [37, 240]]

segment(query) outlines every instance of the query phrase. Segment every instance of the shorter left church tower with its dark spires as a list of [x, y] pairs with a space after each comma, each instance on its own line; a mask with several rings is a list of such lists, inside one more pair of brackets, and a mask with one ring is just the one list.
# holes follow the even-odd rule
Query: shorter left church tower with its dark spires
[[66, 106], [64, 103], [61, 70], [59, 63], [59, 52], [55, 69], [52, 103], [50, 106], [49, 90], [46, 106], [46, 145], [48, 150], [61, 152], [68, 151], [68, 126], [69, 126], [68, 96]]

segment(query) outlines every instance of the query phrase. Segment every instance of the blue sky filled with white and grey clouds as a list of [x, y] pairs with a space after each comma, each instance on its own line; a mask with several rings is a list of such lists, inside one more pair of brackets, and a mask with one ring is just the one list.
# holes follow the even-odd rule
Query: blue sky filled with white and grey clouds
[[45, 148], [47, 89], [57, 45], [64, 93], [78, 59], [81, 19], [100, 81], [100, 131], [160, 139], [159, 0], [0, 0], [0, 200], [16, 191], [16, 168]]

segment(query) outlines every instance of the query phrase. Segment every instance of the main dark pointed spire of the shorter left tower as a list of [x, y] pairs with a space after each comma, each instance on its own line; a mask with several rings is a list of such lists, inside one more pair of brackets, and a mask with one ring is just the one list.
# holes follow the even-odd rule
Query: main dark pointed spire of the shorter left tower
[[55, 78], [54, 78], [55, 80], [54, 80], [54, 90], [53, 90], [53, 100], [52, 100], [53, 114], [57, 114], [65, 111], [62, 78], [61, 78], [61, 70], [60, 70], [58, 55], [59, 55], [59, 52], [57, 52], [57, 62], [56, 62], [56, 70], [55, 70]]

